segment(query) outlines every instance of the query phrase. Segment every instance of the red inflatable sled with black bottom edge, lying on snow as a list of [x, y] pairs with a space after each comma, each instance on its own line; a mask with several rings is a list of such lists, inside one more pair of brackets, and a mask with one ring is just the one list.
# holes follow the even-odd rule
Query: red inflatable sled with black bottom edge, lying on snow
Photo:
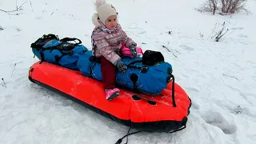
[[177, 107], [174, 107], [171, 83], [159, 96], [135, 94], [121, 89], [118, 98], [107, 101], [102, 82], [86, 77], [78, 70], [66, 69], [49, 62], [35, 62], [30, 67], [29, 79], [106, 118], [146, 132], [170, 132], [186, 127], [191, 106], [190, 98], [177, 83]]

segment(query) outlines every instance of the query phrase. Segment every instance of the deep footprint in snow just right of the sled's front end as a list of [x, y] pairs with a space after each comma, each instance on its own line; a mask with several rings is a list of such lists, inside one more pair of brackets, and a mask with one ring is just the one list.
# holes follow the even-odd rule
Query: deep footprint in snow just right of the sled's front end
[[206, 121], [206, 123], [220, 128], [224, 134], [234, 134], [234, 132], [236, 132], [238, 129], [234, 124], [227, 122], [222, 114], [219, 114], [218, 112], [207, 111], [202, 118]]

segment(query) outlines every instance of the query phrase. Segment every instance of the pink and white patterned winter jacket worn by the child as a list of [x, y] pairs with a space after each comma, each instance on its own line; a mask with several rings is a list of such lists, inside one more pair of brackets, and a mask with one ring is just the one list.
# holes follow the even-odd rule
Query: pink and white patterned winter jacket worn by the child
[[108, 33], [99, 27], [95, 27], [91, 38], [94, 56], [97, 58], [103, 56], [113, 63], [114, 66], [121, 60], [121, 57], [118, 54], [120, 54], [122, 43], [126, 47], [129, 47], [132, 44], [137, 45], [126, 35], [119, 24], [114, 33]]

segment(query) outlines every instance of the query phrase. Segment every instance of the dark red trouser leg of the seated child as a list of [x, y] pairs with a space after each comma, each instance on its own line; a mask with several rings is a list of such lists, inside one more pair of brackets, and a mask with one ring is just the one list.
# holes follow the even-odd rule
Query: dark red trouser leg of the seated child
[[115, 87], [115, 66], [103, 56], [101, 56], [101, 63], [104, 90], [112, 89]]

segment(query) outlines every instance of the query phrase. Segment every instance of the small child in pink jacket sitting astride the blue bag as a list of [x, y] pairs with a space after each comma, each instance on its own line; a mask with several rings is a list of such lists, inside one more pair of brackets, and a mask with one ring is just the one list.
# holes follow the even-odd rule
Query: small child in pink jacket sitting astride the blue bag
[[115, 86], [115, 68], [122, 74], [125, 74], [127, 69], [120, 57], [122, 43], [130, 49], [133, 58], [137, 57], [137, 44], [118, 24], [118, 13], [114, 6], [105, 0], [96, 0], [96, 9], [98, 13], [92, 17], [95, 26], [91, 36], [92, 50], [94, 56], [100, 58], [106, 99], [111, 100], [120, 94], [120, 90]]

